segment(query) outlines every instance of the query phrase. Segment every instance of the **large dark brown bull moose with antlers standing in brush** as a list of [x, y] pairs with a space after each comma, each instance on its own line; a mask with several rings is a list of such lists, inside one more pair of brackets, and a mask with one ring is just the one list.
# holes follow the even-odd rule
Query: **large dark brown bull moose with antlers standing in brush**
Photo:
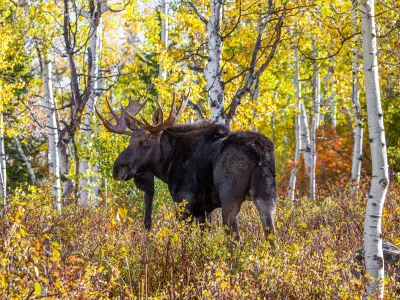
[[164, 119], [163, 110], [153, 114], [153, 124], [142, 115], [146, 101], [129, 99], [120, 116], [108, 108], [116, 124], [96, 113], [111, 132], [130, 136], [128, 147], [114, 162], [113, 178], [133, 179], [144, 192], [146, 229], [151, 227], [154, 176], [168, 185], [173, 200], [186, 200], [186, 215], [204, 224], [210, 213], [221, 208], [223, 224], [240, 239], [237, 215], [245, 198], [254, 202], [265, 237], [274, 231], [276, 208], [275, 157], [273, 143], [251, 131], [230, 131], [211, 121], [177, 124], [189, 94], [181, 97], [176, 109], [174, 93], [171, 111]]

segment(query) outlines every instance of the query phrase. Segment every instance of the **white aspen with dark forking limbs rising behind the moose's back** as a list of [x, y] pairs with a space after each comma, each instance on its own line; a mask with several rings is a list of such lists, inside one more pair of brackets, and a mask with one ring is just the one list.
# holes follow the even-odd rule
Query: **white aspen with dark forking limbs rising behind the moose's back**
[[[225, 9], [224, 7], [228, 8], [230, 4], [221, 0], [212, 0], [210, 2], [211, 13], [209, 19], [206, 19], [197, 9], [194, 1], [188, 1], [188, 4], [192, 7], [197, 17], [204, 25], [206, 25], [207, 28], [207, 54], [201, 55], [200, 53], [203, 50], [198, 52], [202, 60], [207, 60], [204, 62], [206, 67], [202, 68], [198, 64], [198, 61], [193, 61], [190, 68], [196, 71], [201, 71], [204, 74], [207, 84], [208, 101], [210, 103], [211, 119], [215, 123], [226, 124], [229, 126], [242, 99], [254, 91], [258, 78], [263, 74], [274, 57], [282, 36], [282, 25], [287, 12], [287, 3], [284, 2], [281, 9], [277, 10], [273, 1], [268, 1], [265, 13], [261, 14], [262, 18], [257, 22], [258, 34], [254, 40], [254, 46], [250, 49], [250, 57], [243, 65], [241, 64], [240, 67], [236, 69], [238, 71], [236, 74], [226, 76], [227, 73], [224, 73], [224, 76], [227, 78], [222, 78], [222, 61], [224, 70], [226, 70], [225, 68], [227, 67], [229, 60], [233, 59], [229, 58], [227, 60], [225, 58], [223, 60], [222, 43], [228, 39], [231, 40], [230, 38], [237, 33], [239, 28], [242, 27], [245, 21], [241, 21], [241, 18], [242, 15], [244, 16], [245, 14], [241, 9], [242, 4], [235, 3], [235, 5], [238, 5], [240, 13], [237, 16], [237, 19], [232, 19], [235, 19], [233, 22], [233, 24], [235, 24], [233, 28], [226, 30], [225, 26], [223, 35], [221, 29], [222, 11]], [[271, 36], [266, 37], [268, 34], [271, 34]], [[198, 48], [198, 50], [200, 50], [200, 48]], [[197, 56], [197, 53], [195, 55], [190, 55], [190, 57]], [[236, 81], [238, 79], [243, 80], [237, 84]], [[225, 111], [225, 88], [234, 83], [236, 84], [235, 91], [233, 92], [233, 97]]]

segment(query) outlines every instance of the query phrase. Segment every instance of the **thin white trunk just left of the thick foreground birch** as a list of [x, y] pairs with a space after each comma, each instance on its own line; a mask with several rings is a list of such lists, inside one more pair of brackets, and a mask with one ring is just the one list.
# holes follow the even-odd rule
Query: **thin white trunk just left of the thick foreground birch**
[[[353, 32], [357, 30], [357, 10], [358, 1], [353, 0]], [[354, 107], [354, 119], [355, 128], [353, 132], [353, 159], [351, 166], [351, 181], [352, 181], [352, 191], [351, 194], [354, 196], [356, 193], [360, 179], [361, 179], [361, 161], [362, 161], [362, 144], [363, 144], [363, 131], [362, 126], [363, 118], [361, 115], [361, 104], [360, 104], [360, 86], [358, 80], [358, 69], [359, 69], [359, 57], [360, 53], [357, 44], [354, 46], [354, 61], [353, 61], [353, 75], [352, 75], [352, 100]]]

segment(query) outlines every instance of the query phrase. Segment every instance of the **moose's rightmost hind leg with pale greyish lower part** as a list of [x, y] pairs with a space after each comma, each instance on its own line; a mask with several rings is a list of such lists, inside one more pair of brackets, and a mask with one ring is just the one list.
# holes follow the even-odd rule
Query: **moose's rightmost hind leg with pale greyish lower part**
[[273, 176], [262, 176], [261, 170], [255, 170], [250, 181], [250, 197], [260, 215], [264, 235], [270, 240], [274, 233], [274, 215], [276, 210], [276, 184]]

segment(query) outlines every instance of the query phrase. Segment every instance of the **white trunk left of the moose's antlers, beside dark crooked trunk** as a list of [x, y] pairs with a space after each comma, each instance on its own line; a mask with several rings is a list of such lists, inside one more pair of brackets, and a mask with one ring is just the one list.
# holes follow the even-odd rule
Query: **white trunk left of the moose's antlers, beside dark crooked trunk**
[[[94, 134], [93, 130], [93, 114], [94, 114], [94, 106], [97, 102], [99, 87], [101, 85], [100, 79], [100, 68], [99, 68], [99, 53], [101, 51], [101, 29], [102, 29], [102, 14], [106, 10], [108, 10], [108, 6], [100, 7], [95, 4], [96, 10], [93, 14], [87, 14], [87, 18], [90, 25], [89, 36], [90, 36], [90, 54], [92, 58], [92, 68], [90, 72], [90, 78], [92, 80], [92, 84], [89, 90], [90, 96], [89, 100], [86, 104], [85, 108], [85, 117], [83, 120], [83, 141], [88, 147], [89, 152], [92, 151], [92, 138]], [[100, 9], [98, 12], [97, 10]], [[97, 14], [100, 14], [99, 16]], [[91, 172], [93, 171], [93, 172]], [[83, 156], [79, 163], [79, 198], [78, 204], [82, 206], [87, 206], [90, 200], [93, 203], [98, 203], [97, 196], [100, 191], [99, 188], [99, 178], [97, 178], [95, 173], [98, 171], [98, 168], [94, 166], [93, 170], [91, 170], [89, 165], [89, 157]]]

